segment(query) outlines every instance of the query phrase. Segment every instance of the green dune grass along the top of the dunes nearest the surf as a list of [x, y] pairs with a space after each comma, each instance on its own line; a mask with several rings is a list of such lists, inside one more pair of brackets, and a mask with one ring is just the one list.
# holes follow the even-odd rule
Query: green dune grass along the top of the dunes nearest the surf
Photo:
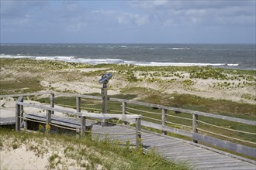
[[[194, 80], [219, 80], [209, 83], [216, 90], [254, 87], [256, 85], [255, 70], [231, 70], [213, 68], [211, 66], [134, 66], [119, 64], [88, 65], [85, 63], [68, 63], [54, 60], [34, 59], [0, 59], [2, 81], [0, 94], [26, 93], [46, 90], [41, 81], [81, 81], [85, 77], [101, 76], [102, 73], [114, 73], [129, 83], [157, 83], [168, 86], [168, 83], [180, 83], [186, 90], [195, 85]], [[79, 69], [94, 69], [82, 72]], [[99, 69], [99, 70], [97, 70]], [[54, 76], [55, 75], [55, 76]], [[50, 78], [53, 76], [52, 78]], [[54, 87], [48, 87], [54, 90]], [[244, 97], [256, 100], [256, 97]]]

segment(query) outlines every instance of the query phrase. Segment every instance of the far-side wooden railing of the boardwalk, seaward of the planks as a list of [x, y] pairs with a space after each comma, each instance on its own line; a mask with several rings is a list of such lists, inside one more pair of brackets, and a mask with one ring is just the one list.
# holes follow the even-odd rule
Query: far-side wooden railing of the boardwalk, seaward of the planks
[[[69, 114], [76, 114], [76, 115], [85, 116], [85, 117], [90, 117], [90, 115], [91, 116], [94, 115], [95, 117], [97, 115], [102, 116], [102, 114], [91, 114], [91, 113], [79, 114], [81, 113], [81, 98], [92, 99], [92, 100], [102, 100], [102, 97], [95, 97], [95, 96], [81, 95], [81, 94], [74, 94], [74, 93], [59, 93], [59, 92], [33, 93], [33, 94], [26, 94], [22, 96], [31, 96], [31, 95], [37, 95], [37, 94], [42, 95], [42, 94], [49, 94], [49, 93], [50, 93], [50, 107], [40, 106], [40, 108], [45, 110], [50, 110], [51, 114], [54, 114], [54, 111], [61, 111], [61, 112], [64, 111], [64, 110], [54, 108], [54, 95], [56, 95], [56, 96], [76, 98], [77, 112], [71, 113], [69, 111], [66, 111]], [[11, 97], [11, 95], [9, 96]], [[16, 95], [16, 97], [17, 96], [20, 96], [20, 94]], [[131, 118], [128, 116], [132, 116], [133, 114], [136, 114], [136, 115], [142, 114], [142, 117], [140, 118], [141, 118], [141, 126], [143, 127], [160, 130], [162, 134], [168, 134], [168, 133], [179, 134], [185, 137], [192, 138], [192, 141], [195, 143], [202, 142], [208, 145], [225, 148], [230, 151], [234, 151], [243, 155], [251, 156], [254, 158], [256, 157], [256, 149], [255, 149], [256, 143], [254, 142], [254, 140], [248, 141], [240, 138], [234, 138], [229, 135], [220, 134], [218, 133], [218, 131], [212, 131], [212, 129], [206, 130], [205, 128], [201, 128], [201, 126], [209, 125], [210, 127], [221, 128], [225, 131], [227, 130], [231, 132], [232, 131], [237, 132], [240, 134], [252, 135], [252, 138], [255, 139], [256, 133], [254, 131], [242, 131], [242, 130], [236, 130], [233, 128], [225, 128], [220, 125], [216, 125], [215, 122], [203, 121], [203, 119], [200, 117], [208, 117], [208, 118], [215, 119], [217, 121], [223, 120], [227, 122], [236, 122], [237, 124], [245, 124], [246, 126], [252, 126], [254, 127], [254, 129], [256, 128], [256, 121], [249, 121], [249, 120], [244, 120], [236, 117], [227, 117], [219, 114], [209, 114], [209, 113], [195, 111], [195, 110], [185, 110], [185, 109], [176, 108], [176, 107], [167, 107], [159, 104], [149, 104], [149, 103], [144, 103], [136, 100], [124, 100], [124, 99], [117, 99], [112, 97], [108, 98], [108, 100], [110, 102], [118, 102], [120, 104], [121, 109], [116, 110], [116, 112], [119, 112], [119, 114], [117, 114], [119, 116], [116, 116], [116, 117], [121, 117], [120, 114], [122, 114], [123, 116], [121, 118], [123, 119], [124, 124], [127, 124], [128, 122], [136, 123], [134, 119], [131, 120]], [[20, 107], [22, 106], [32, 107], [31, 104], [25, 104], [25, 103], [22, 103], [22, 101], [19, 101], [17, 104], [19, 104]], [[143, 109], [141, 107], [143, 107]], [[154, 108], [154, 111], [152, 111], [152, 108]], [[17, 109], [19, 110], [19, 107], [16, 108], [16, 110]], [[95, 109], [97, 108], [92, 108], [92, 110], [95, 110]], [[159, 112], [158, 110], [161, 110], [161, 112]], [[180, 116], [181, 114], [182, 115], [185, 114], [186, 116]], [[114, 117], [114, 115], [116, 114], [106, 114], [106, 115], [109, 115], [109, 116], [111, 115], [110, 116], [111, 118], [111, 117]], [[189, 115], [191, 115], [192, 117], [189, 117]], [[137, 118], [140, 119], [139, 117]], [[190, 121], [191, 125], [170, 121], [171, 119], [181, 119], [187, 122]], [[19, 126], [19, 124], [17, 126]], [[243, 144], [246, 143], [250, 146], [240, 145], [239, 142]]]

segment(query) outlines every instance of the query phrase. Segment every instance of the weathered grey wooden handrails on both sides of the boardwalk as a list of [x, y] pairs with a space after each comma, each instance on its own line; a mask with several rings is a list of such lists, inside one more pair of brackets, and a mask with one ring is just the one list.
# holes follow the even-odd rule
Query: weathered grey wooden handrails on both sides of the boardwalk
[[[61, 96], [70, 96], [70, 97], [79, 97], [79, 98], [86, 98], [86, 99], [93, 99], [93, 100], [102, 100], [102, 97], [95, 97], [95, 96], [89, 96], [89, 95], [83, 95], [83, 94], [74, 94], [74, 93], [60, 93], [60, 92], [44, 92], [44, 93], [25, 93], [25, 94], [16, 94], [16, 95], [5, 95], [5, 96], [0, 96], [0, 97], [18, 97], [19, 95], [21, 96], [33, 96], [33, 95], [41, 95], [41, 94], [50, 94], [50, 93], [55, 93], [57, 95], [61, 95]], [[255, 148], [250, 148], [250, 147], [246, 147], [243, 145], [238, 145], [235, 144], [233, 142], [230, 141], [224, 141], [222, 139], [219, 138], [213, 138], [213, 137], [209, 137], [203, 134], [198, 134], [198, 119], [200, 116], [203, 117], [213, 117], [216, 119], [221, 119], [221, 120], [225, 120], [225, 121], [234, 121], [237, 123], [243, 123], [243, 124], [248, 124], [248, 125], [253, 125], [256, 126], [256, 121], [249, 121], [249, 120], [245, 120], [245, 119], [241, 119], [241, 118], [236, 118], [236, 117], [227, 117], [227, 116], [223, 116], [223, 115], [219, 115], [219, 114], [209, 114], [206, 112], [201, 112], [201, 111], [196, 111], [196, 110], [186, 110], [186, 109], [181, 109], [181, 108], [176, 108], [176, 107], [167, 107], [167, 106], [163, 106], [163, 105], [159, 105], [159, 104], [150, 104], [150, 103], [145, 103], [145, 102], [140, 102], [140, 101], [136, 101], [136, 100], [125, 100], [125, 99], [117, 99], [117, 98], [108, 98], [108, 100], [110, 101], [116, 101], [116, 102], [120, 102], [122, 103], [122, 108], [123, 108], [123, 112], [122, 114], [92, 114], [92, 113], [81, 113], [79, 110], [79, 107], [77, 106], [77, 111], [71, 111], [71, 110], [63, 110], [63, 109], [57, 109], [54, 107], [47, 107], [47, 106], [41, 106], [41, 105], [36, 105], [36, 104], [27, 104], [27, 103], [23, 103], [22, 98], [19, 97], [19, 99], [17, 100], [16, 103], [16, 114], [20, 114], [21, 110], [22, 110], [22, 106], [24, 107], [36, 107], [36, 108], [40, 108], [43, 110], [48, 110], [49, 112], [62, 112], [65, 114], [71, 114], [71, 115], [78, 115], [81, 117], [92, 117], [92, 118], [99, 118], [99, 119], [109, 119], [109, 118], [121, 118], [123, 119], [123, 121], [129, 122], [131, 121], [131, 119], [141, 119], [142, 117], [140, 115], [137, 114], [127, 114], [126, 111], [126, 105], [127, 104], [135, 104], [135, 105], [139, 105], [139, 106], [144, 106], [144, 107], [155, 107], [158, 109], [161, 109], [161, 124], [155, 124], [152, 122], [148, 122], [148, 121], [135, 121], [135, 122], [141, 122], [141, 125], [148, 127], [148, 128], [155, 128], [158, 130], [161, 130], [163, 132], [163, 134], [166, 134], [167, 132], [171, 132], [171, 133], [175, 133], [175, 134], [182, 134], [186, 137], [190, 137], [192, 138], [192, 140], [194, 142], [197, 141], [202, 141], [202, 142], [206, 142], [210, 145], [216, 145], [222, 148], [227, 148], [231, 151], [236, 151], [238, 153], [242, 153], [245, 155], [249, 155], [252, 157], [255, 157], [256, 155], [254, 154]], [[79, 102], [78, 102], [79, 103]], [[52, 106], [54, 106], [54, 102], [52, 102], [51, 104]], [[79, 104], [80, 105], [80, 104]], [[193, 116], [193, 124], [192, 124], [192, 131], [185, 131], [185, 130], [181, 130], [181, 129], [177, 129], [177, 128], [171, 128], [168, 127], [166, 125], [166, 113], [168, 110], [171, 111], [175, 111], [178, 113], [185, 113], [185, 114], [192, 114]], [[143, 110], [142, 110], [143, 111]], [[19, 119], [19, 117], [16, 119]], [[16, 120], [16, 122], [18, 122], [18, 124], [16, 125], [16, 128], [19, 127], [19, 120]], [[133, 122], [133, 123], [135, 123]], [[137, 130], [140, 131], [140, 130]], [[137, 134], [138, 137], [139, 134]], [[209, 137], [209, 138], [208, 138]], [[212, 141], [212, 142], [210, 142]], [[215, 143], [214, 143], [214, 142]], [[225, 145], [224, 145], [225, 144]], [[226, 145], [228, 144], [228, 145]]]

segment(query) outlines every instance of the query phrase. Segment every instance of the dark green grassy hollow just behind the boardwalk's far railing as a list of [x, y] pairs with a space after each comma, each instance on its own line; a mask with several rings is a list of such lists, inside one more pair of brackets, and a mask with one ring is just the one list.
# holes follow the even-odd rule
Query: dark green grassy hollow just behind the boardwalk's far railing
[[[144, 93], [145, 90], [148, 89], [132, 89], [129, 92], [136, 92], [137, 90], [140, 90], [140, 93]], [[98, 94], [99, 95], [99, 94]], [[137, 97], [137, 95], [130, 93], [129, 95], [115, 95], [115, 96], [109, 96], [109, 97], [116, 97], [116, 98], [125, 98], [125, 99], [133, 99]], [[49, 103], [48, 98], [41, 98], [38, 99], [40, 102], [46, 102]], [[202, 97], [196, 97], [193, 95], [180, 95], [180, 94], [171, 94], [171, 95], [163, 95], [161, 93], [152, 93], [147, 96], [143, 97], [140, 100], [150, 102], [153, 104], [162, 104], [165, 106], [171, 106], [171, 107], [179, 107], [179, 108], [184, 108], [184, 109], [189, 109], [189, 110], [199, 110], [203, 112], [208, 112], [208, 113], [215, 113], [215, 114], [222, 114], [230, 117], [239, 117], [239, 118], [244, 118], [247, 120], [252, 120], [254, 121], [256, 118], [255, 114], [255, 106], [253, 104], [239, 104], [237, 102], [232, 102], [229, 100], [211, 100], [211, 99], [206, 99]], [[63, 104], [66, 106], [71, 106], [75, 108], [75, 98], [74, 97], [56, 97], [56, 104]], [[88, 100], [88, 99], [82, 99], [81, 102], [81, 109], [89, 110], [92, 112], [101, 112], [102, 103], [100, 100]], [[143, 107], [143, 106], [138, 106], [134, 104], [127, 104], [127, 107], [132, 107], [137, 110], [145, 110], [146, 112], [143, 111], [137, 111], [137, 110], [130, 110], [127, 109], [127, 111], [133, 113], [133, 114], [142, 114], [144, 116], [143, 120], [144, 121], [150, 121], [153, 123], [161, 124], [161, 110], [152, 108], [152, 107]], [[157, 114], [150, 114], [147, 113], [153, 112]], [[108, 105], [108, 112], [111, 114], [121, 114], [122, 113], [122, 107], [119, 102], [113, 102], [109, 101]], [[240, 114], [244, 113], [244, 114]], [[178, 114], [173, 111], [168, 111], [168, 114], [173, 115], [173, 116], [178, 116], [178, 117], [185, 117], [185, 118], [190, 118], [192, 119], [191, 114]], [[151, 117], [156, 120], [152, 120]], [[186, 126], [192, 126], [192, 121], [189, 120], [182, 120], [180, 118], [176, 117], [168, 117], [167, 121], [173, 122], [175, 124], [184, 124]], [[246, 124], [239, 124], [236, 122], [230, 122], [230, 121], [224, 121], [216, 118], [211, 118], [211, 117], [199, 117], [199, 121], [204, 121], [209, 124], [214, 124], [216, 126], [220, 126], [223, 128], [231, 128], [234, 130], [238, 131], [248, 131], [251, 133], [254, 133], [254, 126], [246, 125]], [[184, 128], [179, 125], [174, 125], [174, 124], [168, 124], [168, 126], [171, 126], [173, 128], [181, 128], [186, 131], [192, 131], [192, 128]], [[255, 142], [254, 135], [251, 134], [242, 134], [239, 132], [234, 132], [234, 131], [227, 131], [223, 130], [220, 128], [214, 128], [212, 126], [209, 126], [207, 124], [201, 124], [199, 123], [199, 128], [202, 128], [206, 131], [213, 131], [215, 133], [220, 133], [223, 135], [227, 136], [232, 136], [234, 138], [240, 138], [242, 140], [247, 140], [247, 141], [253, 141]], [[171, 134], [173, 135], [173, 134]], [[212, 134], [209, 134], [212, 135]], [[215, 137], [215, 135], [212, 135]], [[219, 138], [219, 137], [218, 137]], [[187, 139], [187, 138], [185, 138]], [[223, 138], [224, 140], [228, 140]], [[233, 140], [230, 140], [233, 141]], [[237, 141], [235, 141], [237, 142]], [[247, 144], [246, 142], [240, 142], [238, 143], [242, 145], [248, 145], [251, 147], [254, 147], [254, 145]]]

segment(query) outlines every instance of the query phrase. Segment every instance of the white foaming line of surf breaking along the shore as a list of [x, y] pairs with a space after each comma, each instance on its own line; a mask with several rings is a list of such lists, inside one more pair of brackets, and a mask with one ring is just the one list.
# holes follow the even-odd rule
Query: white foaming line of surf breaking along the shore
[[161, 63], [161, 62], [139, 62], [139, 61], [129, 61], [123, 59], [84, 59], [78, 58], [76, 56], [12, 56], [0, 54], [0, 58], [28, 58], [28, 59], [37, 59], [37, 60], [60, 60], [65, 62], [74, 62], [74, 63], [88, 63], [88, 64], [132, 64], [136, 66], [239, 66], [238, 63]]

